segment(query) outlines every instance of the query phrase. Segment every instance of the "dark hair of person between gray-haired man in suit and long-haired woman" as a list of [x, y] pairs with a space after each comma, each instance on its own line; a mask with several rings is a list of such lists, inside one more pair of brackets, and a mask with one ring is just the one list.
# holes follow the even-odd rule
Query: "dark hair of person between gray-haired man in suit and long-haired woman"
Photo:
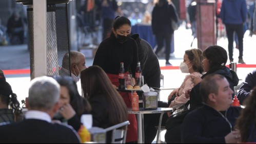
[[91, 106], [86, 99], [83, 99], [77, 90], [77, 85], [72, 77], [69, 76], [54, 76], [53, 77], [61, 86], [67, 87], [70, 97], [70, 105], [77, 115], [89, 113]]

